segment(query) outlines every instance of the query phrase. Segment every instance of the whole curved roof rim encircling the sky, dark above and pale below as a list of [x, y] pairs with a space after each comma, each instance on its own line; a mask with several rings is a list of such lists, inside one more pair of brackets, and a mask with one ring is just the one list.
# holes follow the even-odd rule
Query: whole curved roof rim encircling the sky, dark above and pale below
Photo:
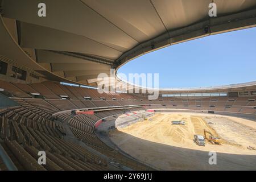
[[[210, 18], [204, 22], [192, 24], [191, 26], [180, 28], [178, 30], [168, 31], [154, 39], [148, 40], [138, 46], [123, 53], [119, 59], [115, 61], [115, 74], [116, 79], [122, 84], [130, 85], [130, 88], [137, 88], [140, 90], [156, 90], [154, 88], [144, 88], [140, 85], [130, 84], [129, 82], [120, 79], [117, 76], [118, 69], [131, 60], [143, 56], [147, 53], [156, 51], [158, 49], [172, 46], [178, 43], [187, 42], [189, 40], [203, 38], [205, 36], [222, 34], [230, 31], [242, 30], [245, 28], [252, 28], [256, 26], [256, 9], [246, 10], [240, 13], [220, 16], [217, 18]], [[232, 92], [234, 90], [256, 90], [256, 81], [246, 82], [241, 84], [230, 84], [223, 86], [209, 86], [197, 88], [158, 88], [160, 93], [191, 93], [191, 92]], [[254, 88], [255, 87], [255, 88]]]

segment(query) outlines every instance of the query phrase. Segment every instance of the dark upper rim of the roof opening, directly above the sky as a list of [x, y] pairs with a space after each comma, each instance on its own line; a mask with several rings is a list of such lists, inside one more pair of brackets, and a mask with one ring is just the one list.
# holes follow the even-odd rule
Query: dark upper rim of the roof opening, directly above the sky
[[118, 71], [122, 65], [139, 56], [174, 44], [203, 38], [209, 35], [255, 27], [255, 15], [256, 9], [247, 10], [241, 13], [210, 18], [209, 20], [179, 28], [177, 30], [170, 30], [123, 53], [117, 60], [115, 60], [115, 69]]

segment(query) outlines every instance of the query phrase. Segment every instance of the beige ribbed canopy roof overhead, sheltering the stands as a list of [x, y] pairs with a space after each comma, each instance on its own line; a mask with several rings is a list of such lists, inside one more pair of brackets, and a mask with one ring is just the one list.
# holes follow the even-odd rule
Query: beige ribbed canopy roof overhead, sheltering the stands
[[256, 24], [255, 0], [215, 0], [212, 18], [212, 0], [44, 0], [43, 18], [39, 2], [0, 0], [1, 58], [49, 80], [91, 86], [145, 53]]

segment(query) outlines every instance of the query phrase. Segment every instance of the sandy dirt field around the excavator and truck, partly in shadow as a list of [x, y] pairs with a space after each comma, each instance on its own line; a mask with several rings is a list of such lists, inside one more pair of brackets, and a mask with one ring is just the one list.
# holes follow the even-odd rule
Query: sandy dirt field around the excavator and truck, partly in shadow
[[[171, 125], [171, 121], [185, 125]], [[210, 131], [224, 143], [205, 147], [193, 141], [195, 134]], [[197, 113], [156, 114], [110, 133], [112, 141], [127, 154], [161, 169], [253, 169], [256, 170], [256, 122]], [[132, 147], [131, 147], [132, 146]], [[209, 151], [217, 152], [217, 165], [208, 163]]]

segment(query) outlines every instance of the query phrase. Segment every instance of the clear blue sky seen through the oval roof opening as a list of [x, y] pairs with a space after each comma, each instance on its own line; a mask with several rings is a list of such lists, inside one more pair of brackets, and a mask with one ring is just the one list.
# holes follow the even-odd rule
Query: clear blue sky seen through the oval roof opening
[[159, 49], [123, 65], [118, 73], [159, 73], [160, 88], [256, 81], [256, 28]]

